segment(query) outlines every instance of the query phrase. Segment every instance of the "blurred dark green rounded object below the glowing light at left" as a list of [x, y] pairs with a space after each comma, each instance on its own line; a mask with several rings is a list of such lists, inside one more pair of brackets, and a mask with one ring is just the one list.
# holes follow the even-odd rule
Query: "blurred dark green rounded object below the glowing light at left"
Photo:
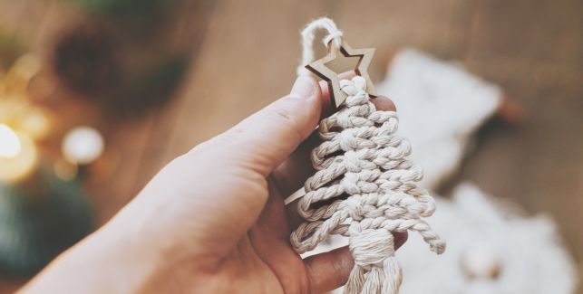
[[44, 173], [45, 194], [0, 183], [0, 273], [31, 277], [93, 230], [92, 205], [81, 179]]

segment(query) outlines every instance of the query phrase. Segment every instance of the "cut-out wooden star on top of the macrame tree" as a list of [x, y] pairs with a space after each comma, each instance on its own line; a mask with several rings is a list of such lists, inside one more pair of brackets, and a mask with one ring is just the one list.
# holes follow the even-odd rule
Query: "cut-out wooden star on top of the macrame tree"
[[330, 101], [335, 108], [339, 108], [346, 100], [348, 95], [340, 90], [338, 80], [338, 73], [332, 71], [326, 66], [326, 63], [334, 61], [338, 57], [338, 52], [341, 52], [345, 57], [359, 57], [356, 64], [355, 73], [364, 78], [366, 81], [366, 92], [371, 97], [376, 97], [374, 91], [373, 81], [368, 76], [368, 66], [371, 64], [374, 55], [374, 48], [352, 49], [344, 41], [338, 47], [335, 42], [330, 42], [328, 45], [328, 54], [315, 62], [306, 65], [306, 69], [314, 72], [318, 77], [328, 83], [328, 90], [330, 92]]

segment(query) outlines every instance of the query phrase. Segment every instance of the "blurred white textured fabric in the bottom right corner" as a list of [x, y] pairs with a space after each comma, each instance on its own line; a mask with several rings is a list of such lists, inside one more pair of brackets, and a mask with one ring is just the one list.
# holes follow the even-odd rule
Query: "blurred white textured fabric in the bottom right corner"
[[401, 293], [575, 293], [578, 269], [549, 215], [526, 215], [471, 183], [435, 198], [432, 226], [447, 254], [435, 258], [417, 238], [407, 241], [396, 254], [406, 273]]

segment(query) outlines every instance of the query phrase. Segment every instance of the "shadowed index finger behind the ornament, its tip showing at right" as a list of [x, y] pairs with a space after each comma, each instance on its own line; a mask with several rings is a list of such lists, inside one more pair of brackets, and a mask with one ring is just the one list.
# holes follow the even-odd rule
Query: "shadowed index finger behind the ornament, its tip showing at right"
[[[379, 96], [371, 101], [376, 109], [395, 111], [393, 101], [384, 96]], [[280, 193], [284, 197], [300, 189], [306, 179], [316, 172], [310, 161], [310, 152], [321, 142], [322, 140], [319, 138], [317, 131], [313, 131], [310, 137], [297, 147], [296, 151], [282, 165], [277, 166], [272, 175], [277, 187], [280, 189]]]

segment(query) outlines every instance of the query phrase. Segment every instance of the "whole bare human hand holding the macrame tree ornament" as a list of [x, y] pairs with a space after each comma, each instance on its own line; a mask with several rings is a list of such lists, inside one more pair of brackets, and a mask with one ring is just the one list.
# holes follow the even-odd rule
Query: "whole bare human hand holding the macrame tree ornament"
[[[373, 100], [394, 110], [391, 100]], [[314, 174], [326, 84], [300, 77], [286, 97], [179, 156], [110, 223], [66, 251], [24, 290], [320, 293], [345, 284], [347, 248], [302, 259], [301, 218], [284, 198]], [[406, 233], [395, 234], [400, 247]]]

